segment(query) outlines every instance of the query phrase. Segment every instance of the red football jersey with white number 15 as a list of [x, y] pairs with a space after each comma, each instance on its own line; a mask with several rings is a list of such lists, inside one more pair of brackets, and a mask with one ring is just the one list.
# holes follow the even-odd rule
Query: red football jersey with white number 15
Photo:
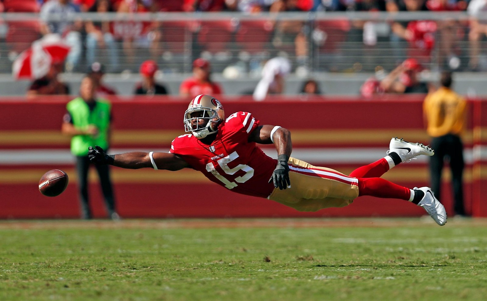
[[169, 152], [236, 193], [267, 197], [274, 190], [269, 179], [277, 160], [265, 155], [255, 142], [248, 142], [248, 136], [259, 124], [248, 112], [233, 113], [219, 125], [210, 145], [186, 134], [172, 141]]

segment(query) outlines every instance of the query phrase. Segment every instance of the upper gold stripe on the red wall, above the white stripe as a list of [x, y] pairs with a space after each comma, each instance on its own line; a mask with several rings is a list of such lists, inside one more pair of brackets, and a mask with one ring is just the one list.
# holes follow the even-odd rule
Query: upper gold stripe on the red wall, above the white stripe
[[[356, 145], [357, 143], [388, 143], [391, 137], [402, 137], [407, 141], [430, 141], [426, 131], [421, 129], [291, 129], [295, 144], [343, 144]], [[476, 128], [476, 137], [481, 142], [487, 142], [487, 127]], [[114, 144], [165, 144], [177, 136], [184, 134], [182, 130], [114, 130]], [[468, 131], [463, 136], [464, 142], [472, 142], [473, 133]], [[69, 137], [63, 136], [60, 131], [46, 130], [19, 130], [0, 131], [2, 145], [69, 145]]]

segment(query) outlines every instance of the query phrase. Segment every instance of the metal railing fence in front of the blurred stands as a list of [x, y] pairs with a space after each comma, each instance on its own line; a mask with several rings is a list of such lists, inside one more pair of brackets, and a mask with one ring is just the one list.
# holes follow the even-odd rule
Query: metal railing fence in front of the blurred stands
[[[485, 22], [487, 16], [479, 16]], [[43, 24], [66, 25], [74, 45], [66, 71], [100, 61], [108, 72], [137, 72], [155, 60], [164, 73], [187, 73], [198, 57], [228, 77], [258, 76], [262, 62], [287, 56], [296, 74], [391, 71], [414, 57], [432, 71], [487, 71], [485, 34], [471, 34], [465, 12], [81, 13], [0, 14], [0, 73], [40, 38]], [[404, 35], [404, 32], [407, 32]]]

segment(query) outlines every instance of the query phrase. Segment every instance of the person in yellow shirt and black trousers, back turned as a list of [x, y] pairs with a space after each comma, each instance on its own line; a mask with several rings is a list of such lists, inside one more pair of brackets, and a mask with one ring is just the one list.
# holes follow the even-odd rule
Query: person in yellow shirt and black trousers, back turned
[[466, 126], [467, 102], [451, 89], [452, 74], [441, 74], [441, 87], [428, 94], [423, 103], [427, 132], [431, 136], [431, 190], [441, 199], [441, 174], [445, 159], [449, 159], [453, 188], [454, 211], [466, 215], [463, 204], [462, 177], [464, 169], [463, 143], [460, 135]]

